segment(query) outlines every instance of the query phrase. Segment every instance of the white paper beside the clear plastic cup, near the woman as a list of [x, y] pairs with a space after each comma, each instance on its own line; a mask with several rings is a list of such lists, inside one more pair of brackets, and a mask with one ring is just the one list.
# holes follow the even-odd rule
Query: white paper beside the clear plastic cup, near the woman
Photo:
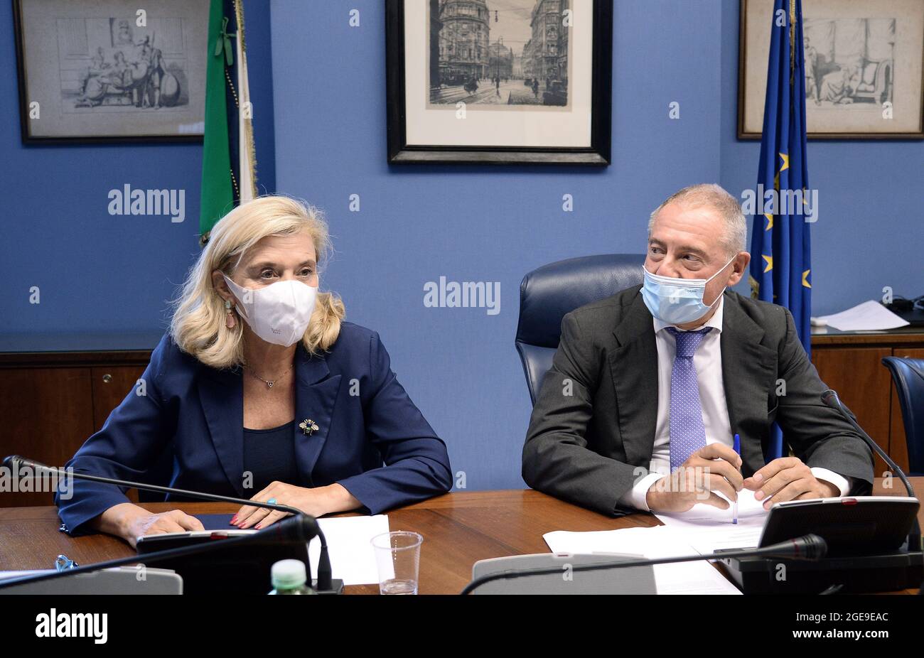
[[[369, 585], [379, 582], [375, 552], [371, 539], [388, 532], [388, 516], [319, 518], [318, 525], [327, 539], [327, 553], [331, 557], [334, 578], [343, 579], [345, 585]], [[321, 542], [314, 538], [308, 544], [311, 573], [317, 576]]]

